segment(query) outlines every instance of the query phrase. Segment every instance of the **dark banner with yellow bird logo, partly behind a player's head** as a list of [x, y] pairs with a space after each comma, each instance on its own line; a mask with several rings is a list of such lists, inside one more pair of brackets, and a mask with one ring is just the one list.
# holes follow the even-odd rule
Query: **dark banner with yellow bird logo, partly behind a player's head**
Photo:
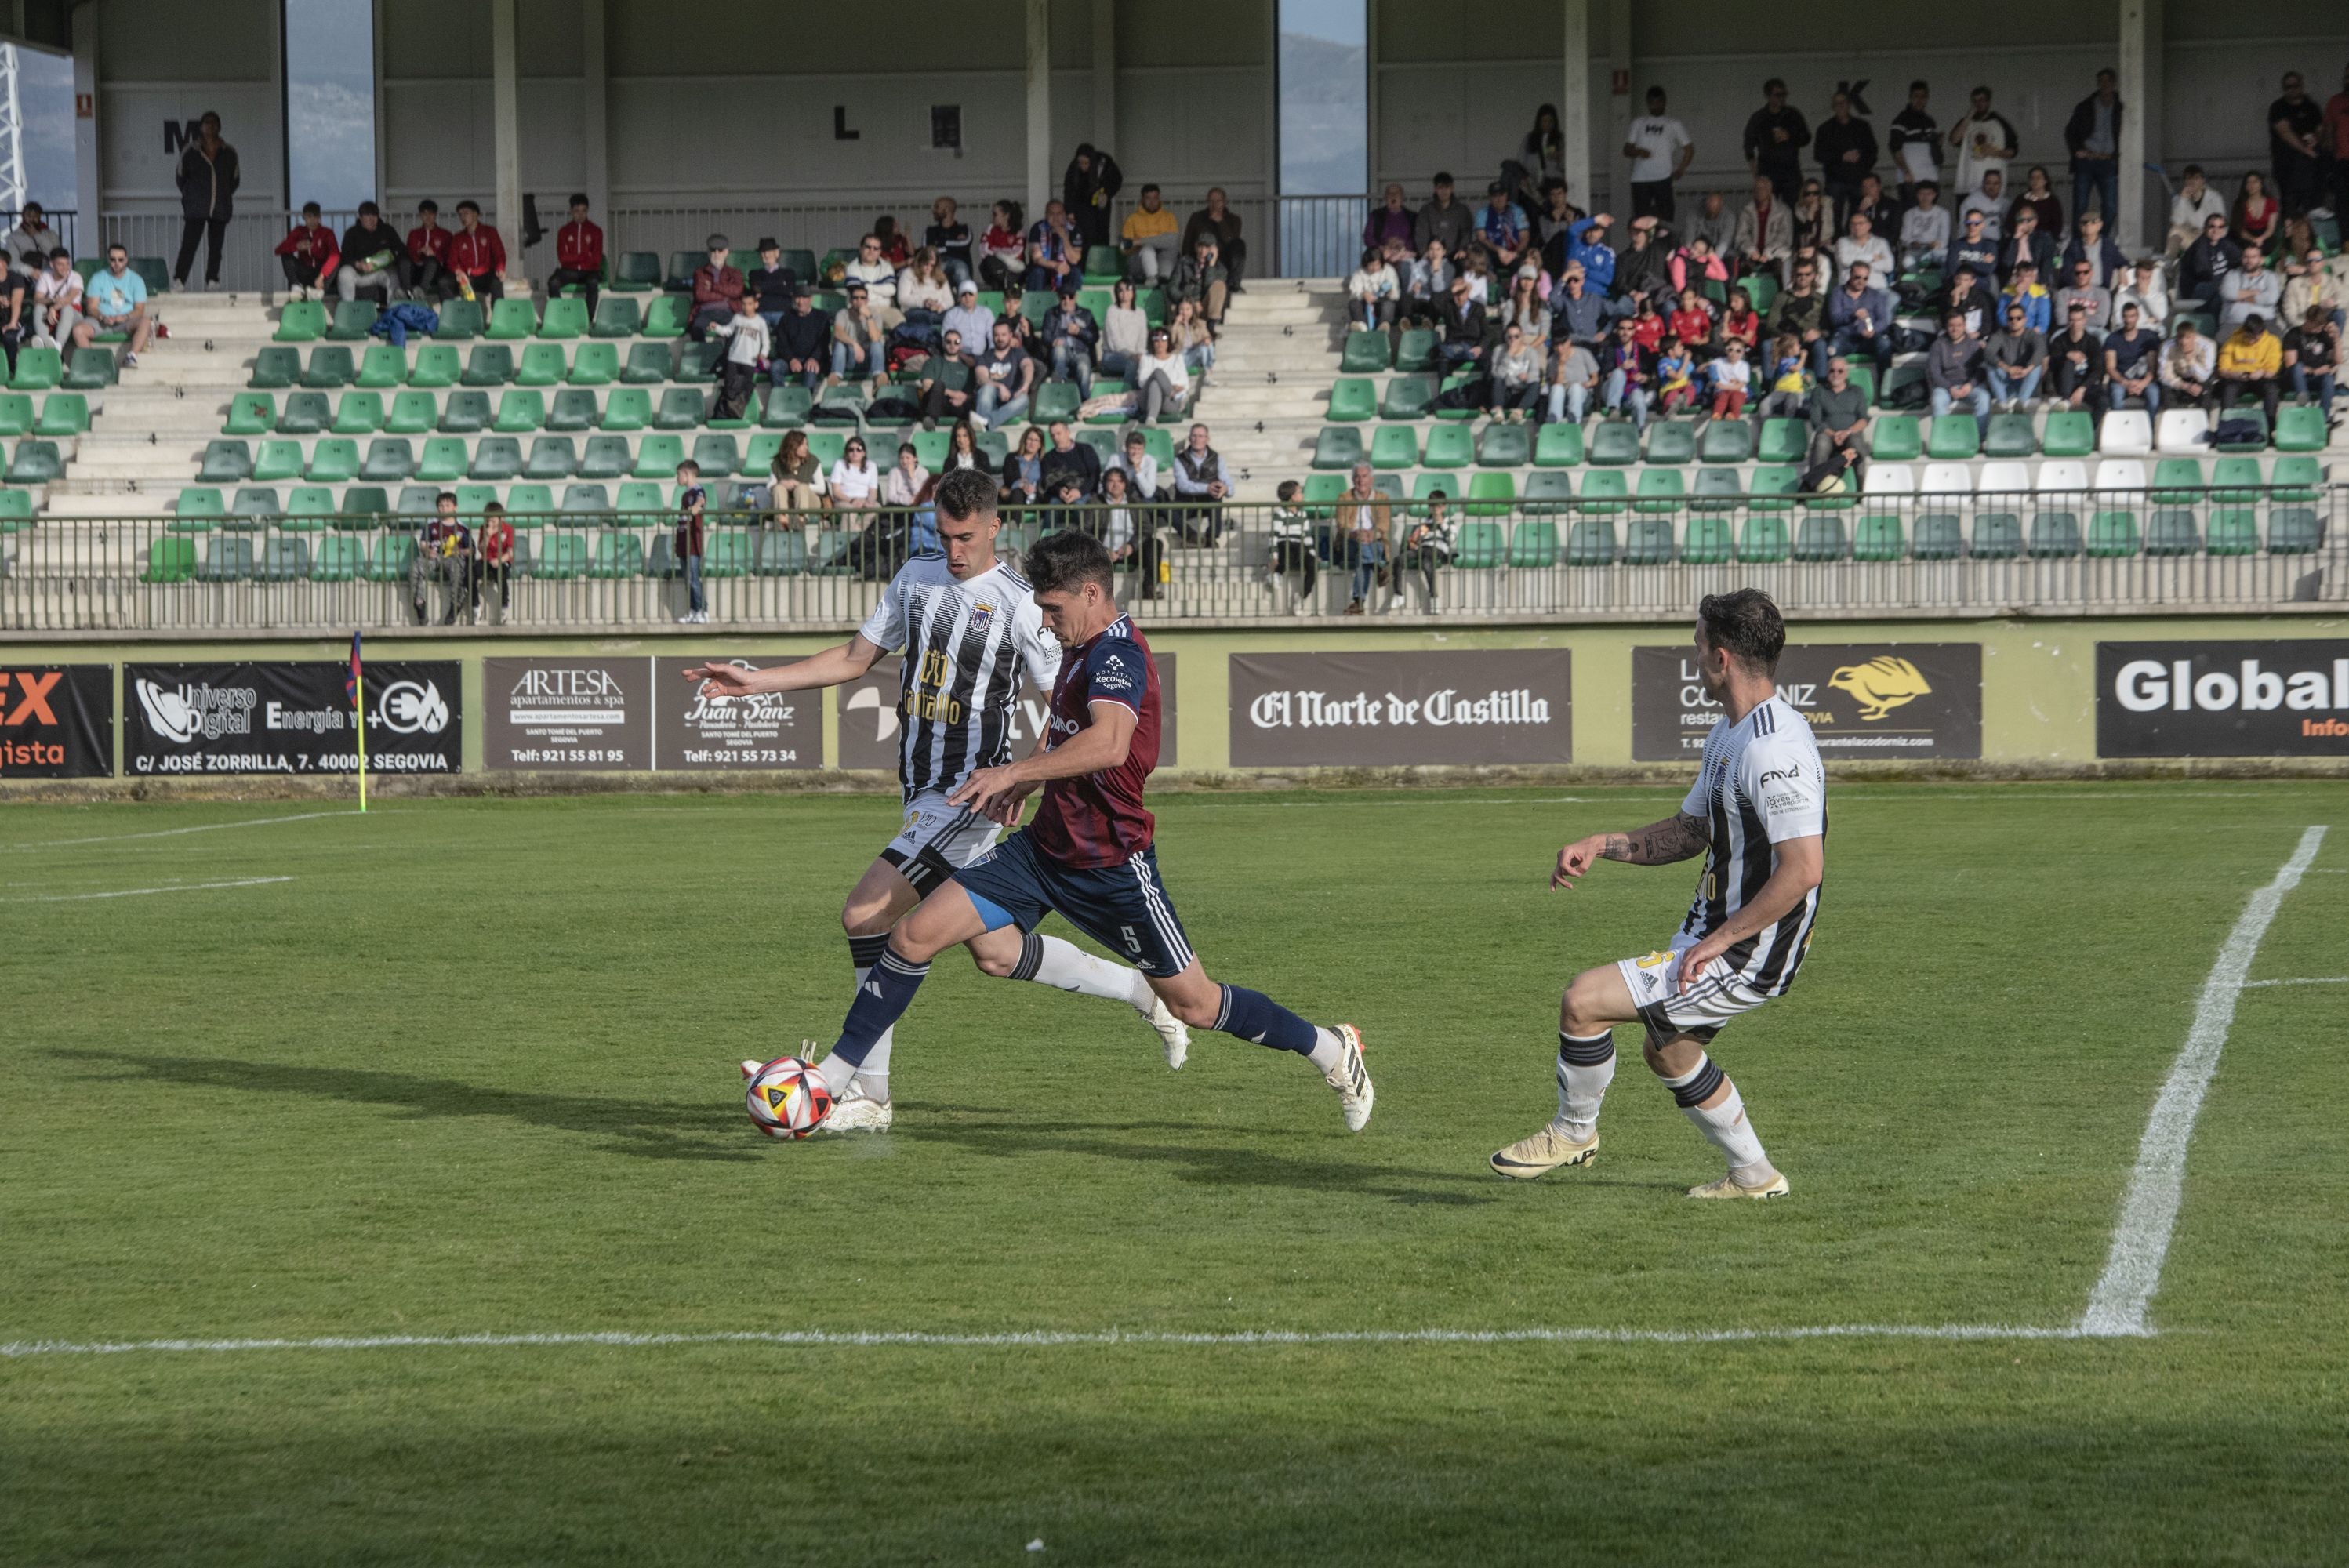
[[[1778, 657], [1778, 695], [1830, 763], [1983, 756], [1980, 643], [1795, 646]], [[1694, 763], [1719, 721], [1687, 646], [1633, 648], [1633, 761]]]

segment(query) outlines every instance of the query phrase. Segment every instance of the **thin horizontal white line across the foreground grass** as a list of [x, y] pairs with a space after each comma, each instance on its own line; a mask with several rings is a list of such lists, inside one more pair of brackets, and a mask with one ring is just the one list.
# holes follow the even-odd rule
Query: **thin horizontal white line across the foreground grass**
[[0, 1359], [19, 1357], [115, 1357], [141, 1352], [240, 1352], [240, 1350], [512, 1350], [561, 1345], [613, 1345], [648, 1350], [665, 1345], [785, 1345], [803, 1350], [911, 1347], [911, 1350], [1059, 1350], [1083, 1345], [1734, 1345], [1745, 1340], [2077, 1340], [2084, 1331], [2030, 1329], [2015, 1324], [1825, 1324], [1816, 1329], [1259, 1329], [1247, 1333], [1163, 1333], [1106, 1329], [1071, 1333], [1034, 1329], [1017, 1333], [832, 1333], [759, 1331], [738, 1333], [355, 1333], [301, 1340], [14, 1340], [0, 1343]]

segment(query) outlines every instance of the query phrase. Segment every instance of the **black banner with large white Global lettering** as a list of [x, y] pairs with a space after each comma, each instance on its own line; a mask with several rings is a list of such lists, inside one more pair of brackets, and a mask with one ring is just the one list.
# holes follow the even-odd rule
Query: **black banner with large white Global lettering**
[[2349, 756], [2349, 641], [2098, 643], [2098, 756]]

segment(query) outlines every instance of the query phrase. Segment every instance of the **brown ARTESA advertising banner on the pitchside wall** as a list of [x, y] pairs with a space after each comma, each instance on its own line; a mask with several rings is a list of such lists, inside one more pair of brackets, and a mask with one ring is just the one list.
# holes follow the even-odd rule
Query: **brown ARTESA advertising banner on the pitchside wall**
[[[651, 768], [651, 660], [482, 660], [482, 765]], [[684, 685], [684, 681], [679, 681]]]

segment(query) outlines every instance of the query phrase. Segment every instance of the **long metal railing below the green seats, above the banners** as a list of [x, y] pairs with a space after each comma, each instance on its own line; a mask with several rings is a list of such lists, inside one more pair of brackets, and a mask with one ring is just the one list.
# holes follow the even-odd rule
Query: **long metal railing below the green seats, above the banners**
[[[1461, 479], [1466, 488], [1473, 477]], [[756, 512], [763, 488], [714, 500], [702, 580], [723, 624], [855, 624], [921, 535], [907, 512]], [[1412, 542], [1428, 521], [1414, 502], [1393, 502], [1384, 561], [1367, 563], [1330, 505], [1301, 507], [1304, 547], [1283, 545], [1276, 509], [1261, 505], [1156, 500], [1125, 519], [1106, 507], [1008, 507], [998, 549], [1017, 559], [1052, 528], [1092, 530], [1123, 547], [1118, 594], [1151, 622], [1287, 624], [1344, 615], [1358, 596], [1372, 615], [1440, 620], [1675, 617], [1701, 594], [1743, 584], [1769, 589], [1790, 615], [2349, 603], [2349, 486], [1445, 505], [1449, 556]], [[0, 533], [0, 634], [395, 629], [418, 622], [418, 589], [425, 620], [453, 608], [538, 634], [651, 629], [686, 613], [669, 514], [514, 514], [507, 592], [491, 580], [479, 610], [470, 561], [413, 566], [423, 521], [21, 523]]]

